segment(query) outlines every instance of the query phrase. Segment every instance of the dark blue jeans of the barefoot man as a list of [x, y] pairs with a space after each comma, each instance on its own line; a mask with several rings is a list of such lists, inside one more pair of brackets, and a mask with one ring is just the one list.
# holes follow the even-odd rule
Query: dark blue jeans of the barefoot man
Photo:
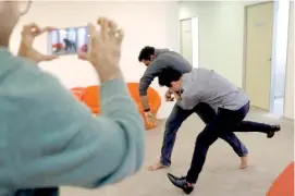
[[[207, 103], [198, 103], [192, 110], [183, 110], [180, 106], [175, 105], [165, 123], [163, 145], [161, 150], [162, 164], [171, 164], [171, 154], [176, 138], [176, 132], [182, 123], [194, 112], [199, 115], [206, 125], [212, 122], [217, 115], [216, 111]], [[234, 133], [224, 133], [223, 135], [220, 135], [220, 138], [229, 143], [237, 156], [244, 157], [248, 154], [247, 148], [239, 142]]]

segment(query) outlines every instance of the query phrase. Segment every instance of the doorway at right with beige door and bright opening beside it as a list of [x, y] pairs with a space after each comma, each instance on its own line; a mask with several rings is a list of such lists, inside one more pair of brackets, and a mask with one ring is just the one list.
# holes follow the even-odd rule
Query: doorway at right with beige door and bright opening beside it
[[288, 11], [281, 2], [245, 8], [244, 89], [253, 107], [278, 115], [284, 108], [288, 24]]

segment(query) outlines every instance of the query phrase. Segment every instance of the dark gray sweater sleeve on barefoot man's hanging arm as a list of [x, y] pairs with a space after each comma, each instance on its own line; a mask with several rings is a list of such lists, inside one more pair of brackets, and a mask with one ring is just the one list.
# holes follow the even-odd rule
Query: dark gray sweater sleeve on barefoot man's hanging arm
[[147, 89], [155, 77], [159, 75], [159, 73], [164, 68], [164, 62], [162, 59], [156, 59], [151, 62], [151, 64], [147, 68], [146, 72], [144, 73], [143, 77], [139, 82], [139, 95], [146, 96]]

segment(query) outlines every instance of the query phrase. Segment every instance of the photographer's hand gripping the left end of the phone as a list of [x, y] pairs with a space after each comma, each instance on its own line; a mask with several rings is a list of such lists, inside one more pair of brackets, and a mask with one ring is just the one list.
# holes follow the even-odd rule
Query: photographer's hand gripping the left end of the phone
[[41, 35], [45, 32], [50, 32], [52, 29], [54, 28], [53, 27], [40, 28], [35, 23], [25, 25], [22, 30], [22, 40], [17, 56], [30, 59], [36, 63], [57, 59], [58, 56], [46, 56], [33, 48], [33, 42], [37, 36]]

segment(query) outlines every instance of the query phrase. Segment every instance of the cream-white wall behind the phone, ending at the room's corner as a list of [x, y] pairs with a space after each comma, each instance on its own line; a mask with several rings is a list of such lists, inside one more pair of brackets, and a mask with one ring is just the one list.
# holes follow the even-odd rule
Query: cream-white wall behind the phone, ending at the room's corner
[[[39, 25], [69, 27], [83, 26], [95, 22], [98, 16], [113, 19], [124, 28], [125, 40], [121, 68], [127, 82], [138, 82], [145, 71], [137, 57], [139, 50], [151, 45], [179, 51], [179, 7], [177, 2], [36, 2], [20, 22], [12, 36], [11, 48], [17, 50], [21, 26], [27, 22]], [[35, 42], [36, 48], [47, 52], [47, 35]], [[87, 86], [98, 83], [94, 69], [74, 56], [62, 57], [41, 68], [58, 76], [65, 87]], [[152, 86], [163, 97], [164, 88], [156, 82]], [[159, 118], [165, 118], [171, 111], [171, 103], [162, 101]]]

